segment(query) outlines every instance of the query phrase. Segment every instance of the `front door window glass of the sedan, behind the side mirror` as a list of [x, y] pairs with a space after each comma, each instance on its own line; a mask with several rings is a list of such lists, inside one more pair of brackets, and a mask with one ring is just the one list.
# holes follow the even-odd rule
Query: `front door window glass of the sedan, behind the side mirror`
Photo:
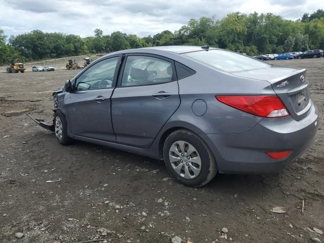
[[76, 90], [108, 89], [112, 87], [118, 57], [104, 59], [89, 67], [75, 82]]

